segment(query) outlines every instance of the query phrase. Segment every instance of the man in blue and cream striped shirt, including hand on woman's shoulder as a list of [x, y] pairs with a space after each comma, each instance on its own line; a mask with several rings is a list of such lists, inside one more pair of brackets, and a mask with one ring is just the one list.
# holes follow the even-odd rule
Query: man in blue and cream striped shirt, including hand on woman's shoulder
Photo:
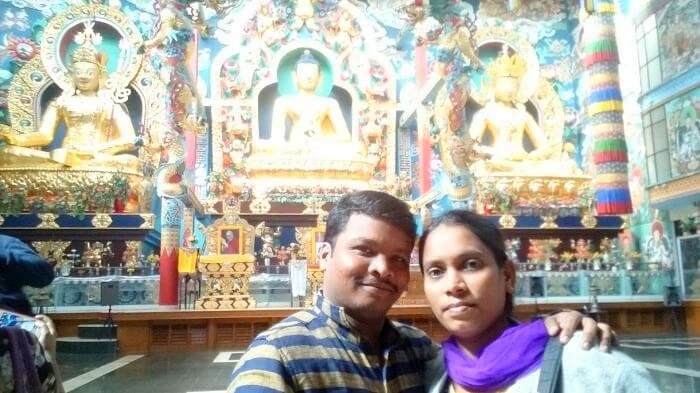
[[[423, 368], [438, 347], [419, 329], [386, 317], [408, 286], [415, 235], [408, 206], [393, 196], [343, 196], [328, 216], [319, 250], [328, 260], [323, 293], [312, 309], [253, 340], [228, 391], [424, 391]], [[561, 330], [568, 340], [579, 318], [560, 313], [546, 324], [551, 335]], [[591, 341], [596, 324], [587, 318], [584, 327], [584, 341]], [[609, 332], [603, 330], [607, 345]]]

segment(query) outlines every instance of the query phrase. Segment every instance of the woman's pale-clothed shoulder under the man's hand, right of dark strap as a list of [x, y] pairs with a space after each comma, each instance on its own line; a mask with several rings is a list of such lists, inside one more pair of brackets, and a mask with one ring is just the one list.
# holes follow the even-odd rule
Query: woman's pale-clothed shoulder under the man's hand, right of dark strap
[[565, 385], [588, 386], [587, 391], [592, 392], [658, 392], [649, 372], [618, 349], [603, 352], [594, 343], [591, 349], [584, 350], [581, 345], [582, 333], [578, 332], [564, 346]]

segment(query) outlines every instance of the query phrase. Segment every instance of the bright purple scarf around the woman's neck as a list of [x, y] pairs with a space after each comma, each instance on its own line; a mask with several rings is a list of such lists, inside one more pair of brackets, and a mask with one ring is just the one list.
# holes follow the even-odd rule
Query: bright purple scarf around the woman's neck
[[466, 389], [504, 388], [540, 366], [548, 340], [542, 320], [515, 325], [470, 358], [452, 336], [442, 343], [445, 369], [452, 382]]

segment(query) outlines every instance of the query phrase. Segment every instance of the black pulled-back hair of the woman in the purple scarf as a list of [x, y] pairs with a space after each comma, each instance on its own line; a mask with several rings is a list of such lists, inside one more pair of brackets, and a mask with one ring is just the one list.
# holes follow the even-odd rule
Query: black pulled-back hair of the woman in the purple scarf
[[[423, 273], [425, 241], [428, 235], [441, 225], [461, 226], [473, 233], [491, 251], [499, 269], [502, 269], [508, 262], [503, 234], [496, 224], [489, 221], [486, 217], [469, 210], [450, 210], [434, 218], [418, 240], [418, 263], [420, 264], [421, 274]], [[507, 294], [506, 315], [511, 316], [513, 314], [513, 304], [513, 294]]]

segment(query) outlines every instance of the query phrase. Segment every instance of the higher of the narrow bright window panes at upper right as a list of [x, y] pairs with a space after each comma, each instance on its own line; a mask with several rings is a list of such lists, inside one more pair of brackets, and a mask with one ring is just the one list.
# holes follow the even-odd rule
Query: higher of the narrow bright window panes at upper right
[[663, 80], [659, 41], [656, 29], [656, 15], [650, 15], [637, 26], [637, 56], [639, 57], [639, 76], [642, 92], [649, 91]]

